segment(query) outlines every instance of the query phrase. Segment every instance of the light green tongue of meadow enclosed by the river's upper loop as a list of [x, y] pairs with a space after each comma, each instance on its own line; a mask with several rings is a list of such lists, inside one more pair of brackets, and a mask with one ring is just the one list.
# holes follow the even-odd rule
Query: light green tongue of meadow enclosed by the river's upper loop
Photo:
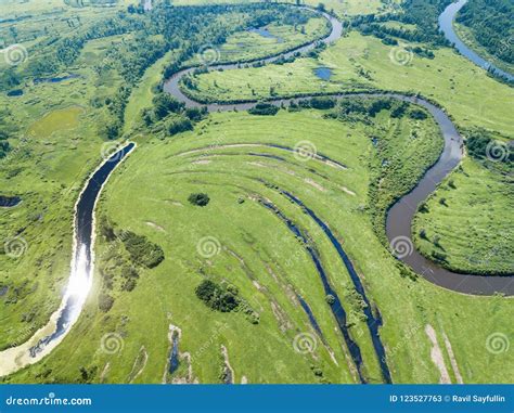
[[[514, 98], [512, 88], [488, 77], [485, 70], [451, 49], [436, 50], [434, 60], [414, 55], [407, 65], [396, 64], [390, 59], [389, 54], [395, 51], [374, 37], [351, 31], [322, 52], [318, 60], [299, 59], [284, 65], [198, 75], [197, 90], [190, 93], [213, 101], [229, 101], [265, 99], [270, 96], [270, 91], [274, 95], [370, 88], [420, 92], [444, 106], [460, 127], [480, 126], [514, 135], [509, 105], [503, 104]], [[316, 77], [313, 69], [319, 66], [333, 69], [330, 81]]]

